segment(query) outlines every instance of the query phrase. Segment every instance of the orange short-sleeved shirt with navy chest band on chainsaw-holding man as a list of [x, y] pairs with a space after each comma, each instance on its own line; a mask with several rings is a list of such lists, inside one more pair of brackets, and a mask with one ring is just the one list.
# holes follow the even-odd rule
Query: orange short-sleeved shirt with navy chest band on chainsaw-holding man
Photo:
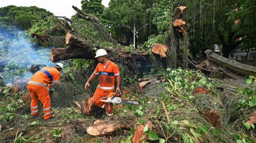
[[102, 63], [98, 63], [93, 74], [99, 75], [99, 88], [102, 90], [115, 89], [115, 77], [119, 76], [118, 65], [109, 60], [108, 64], [104, 68]]

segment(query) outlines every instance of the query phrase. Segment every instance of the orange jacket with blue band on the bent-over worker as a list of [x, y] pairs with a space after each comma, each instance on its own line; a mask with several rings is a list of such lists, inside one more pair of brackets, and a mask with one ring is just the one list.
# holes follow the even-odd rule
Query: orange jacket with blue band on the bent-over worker
[[55, 67], [43, 67], [30, 78], [27, 84], [47, 88], [47, 84], [59, 83], [59, 78], [60, 72]]

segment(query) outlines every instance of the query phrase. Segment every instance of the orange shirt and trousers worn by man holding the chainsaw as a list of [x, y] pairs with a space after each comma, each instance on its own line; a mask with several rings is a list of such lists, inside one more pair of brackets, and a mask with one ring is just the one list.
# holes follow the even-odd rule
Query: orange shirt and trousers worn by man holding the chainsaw
[[113, 93], [115, 90], [115, 77], [119, 76], [118, 66], [109, 61], [104, 68], [102, 63], [98, 63], [95, 71], [95, 75], [99, 75], [99, 84], [93, 94], [92, 101], [98, 107], [104, 108], [107, 116], [113, 115], [113, 104], [102, 102], [101, 97], [108, 96], [109, 93]]

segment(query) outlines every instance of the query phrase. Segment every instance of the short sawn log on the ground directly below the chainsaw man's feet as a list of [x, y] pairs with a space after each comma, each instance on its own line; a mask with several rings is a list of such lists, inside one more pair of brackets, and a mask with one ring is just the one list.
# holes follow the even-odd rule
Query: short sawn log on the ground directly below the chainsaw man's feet
[[116, 119], [108, 119], [105, 121], [96, 120], [93, 126], [86, 129], [86, 132], [92, 136], [117, 136], [124, 134], [126, 129], [129, 129], [131, 121], [121, 123]]

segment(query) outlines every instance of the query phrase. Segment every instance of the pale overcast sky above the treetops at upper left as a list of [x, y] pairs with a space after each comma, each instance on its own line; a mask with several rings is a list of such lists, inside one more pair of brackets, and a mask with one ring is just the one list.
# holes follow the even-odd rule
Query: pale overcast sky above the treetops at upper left
[[[102, 4], [108, 7], [109, 0], [102, 0]], [[0, 7], [14, 6], [37, 6], [45, 8], [55, 16], [66, 16], [70, 18], [75, 14], [72, 6], [81, 9], [81, 0], [0, 0]]]

